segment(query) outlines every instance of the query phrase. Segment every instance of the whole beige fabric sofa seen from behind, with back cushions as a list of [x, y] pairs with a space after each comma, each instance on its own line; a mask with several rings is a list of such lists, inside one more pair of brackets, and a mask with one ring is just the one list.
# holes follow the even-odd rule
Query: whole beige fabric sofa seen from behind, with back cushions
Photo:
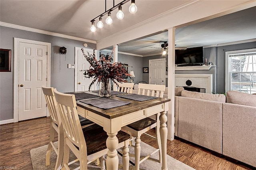
[[175, 95], [176, 136], [256, 167], [256, 95]]

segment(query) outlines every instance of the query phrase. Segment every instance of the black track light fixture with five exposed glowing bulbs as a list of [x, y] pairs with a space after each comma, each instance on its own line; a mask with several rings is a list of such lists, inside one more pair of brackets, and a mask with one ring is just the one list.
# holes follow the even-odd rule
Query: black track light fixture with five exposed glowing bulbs
[[[91, 20], [92, 22], [92, 26], [90, 28], [90, 30], [92, 32], [96, 32], [96, 27], [94, 25], [94, 21], [99, 18], [99, 22], [97, 23], [97, 27], [98, 28], [103, 28], [104, 24], [102, 22], [102, 17], [105, 16], [106, 14], [108, 14], [108, 17], [106, 18], [106, 24], [110, 25], [112, 24], [113, 20], [111, 18], [111, 12], [113, 10], [115, 10], [116, 8], [118, 8], [118, 12], [116, 13], [116, 18], [118, 18], [119, 20], [122, 20], [124, 18], [124, 12], [122, 12], [122, 5], [124, 5], [126, 2], [129, 2], [130, 0], [123, 0], [122, 2], [120, 2], [119, 4], [115, 5], [115, 0], [113, 0], [113, 7], [110, 8], [109, 10], [107, 10], [107, 0], [105, 0], [105, 12], [103, 12], [102, 14], [100, 14], [99, 16], [93, 18]], [[131, 0], [131, 5], [129, 7], [129, 11], [132, 14], [135, 14], [137, 12], [137, 6], [135, 5], [135, 0]]]

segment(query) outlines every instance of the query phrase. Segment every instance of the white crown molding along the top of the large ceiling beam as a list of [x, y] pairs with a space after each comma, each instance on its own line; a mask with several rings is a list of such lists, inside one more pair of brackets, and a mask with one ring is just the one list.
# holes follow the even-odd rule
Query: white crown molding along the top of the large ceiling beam
[[200, 1], [201, 1], [201, 0], [189, 1], [189, 2], [187, 2], [187, 3], [185, 3], [185, 4], [182, 4], [181, 6], [177, 6], [176, 8], [172, 8], [172, 9], [166, 11], [166, 12], [163, 12], [163, 13], [161, 13], [161, 14], [158, 14], [158, 15], [152, 17], [152, 18], [149, 18], [148, 20], [144, 20], [143, 22], [140, 22], [140, 23], [138, 23], [138, 24], [135, 24], [135, 25], [133, 25], [133, 26], [130, 26], [130, 27], [128, 27], [128, 28], [126, 28], [126, 29], [124, 29], [124, 30], [122, 30], [122, 31], [120, 31], [120, 32], [116, 32], [116, 33], [112, 34], [111, 36], [102, 38], [102, 39], [98, 40], [97, 43], [100, 43], [100, 42], [102, 42], [102, 41], [104, 41], [104, 40], [108, 40], [108, 39], [110, 39], [110, 38], [114, 38], [114, 37], [119, 36], [119, 35], [122, 35], [122, 34], [124, 34], [124, 33], [126, 33], [126, 32], [129, 32], [129, 31], [131, 31], [131, 30], [134, 30], [135, 28], [139, 28], [139, 27], [142, 27], [142, 26], [144, 26], [144, 25], [146, 25], [146, 24], [149, 24], [149, 23], [151, 23], [151, 22], [160, 20], [161, 18], [165, 18], [166, 16], [172, 15], [172, 14], [174, 14], [175, 12], [178, 12], [178, 11], [184, 9], [184, 8], [188, 8], [188, 7], [193, 6], [193, 5], [197, 4], [197, 3], [200, 3]]

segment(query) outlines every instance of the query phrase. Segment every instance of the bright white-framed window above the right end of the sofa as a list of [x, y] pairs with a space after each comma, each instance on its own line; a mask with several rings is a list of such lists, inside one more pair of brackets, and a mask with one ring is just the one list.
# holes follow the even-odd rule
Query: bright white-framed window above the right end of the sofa
[[256, 49], [226, 52], [226, 91], [256, 93]]

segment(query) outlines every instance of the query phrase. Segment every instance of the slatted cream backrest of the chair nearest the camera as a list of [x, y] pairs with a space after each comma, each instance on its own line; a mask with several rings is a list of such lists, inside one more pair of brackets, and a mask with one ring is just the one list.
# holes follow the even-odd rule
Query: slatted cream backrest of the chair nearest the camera
[[56, 89], [54, 89], [54, 95], [60, 109], [60, 118], [64, 132], [66, 132], [68, 139], [74, 145], [78, 146], [78, 148], [86, 147], [82, 127], [76, 110], [75, 95], [60, 93]]

